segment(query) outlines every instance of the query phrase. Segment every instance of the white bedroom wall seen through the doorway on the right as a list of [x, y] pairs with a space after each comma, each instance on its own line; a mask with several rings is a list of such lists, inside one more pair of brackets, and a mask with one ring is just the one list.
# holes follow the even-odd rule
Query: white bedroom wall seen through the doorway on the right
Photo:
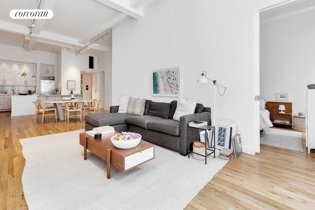
[[260, 97], [290, 94], [292, 114], [305, 111], [305, 89], [315, 84], [315, 11], [260, 24]]

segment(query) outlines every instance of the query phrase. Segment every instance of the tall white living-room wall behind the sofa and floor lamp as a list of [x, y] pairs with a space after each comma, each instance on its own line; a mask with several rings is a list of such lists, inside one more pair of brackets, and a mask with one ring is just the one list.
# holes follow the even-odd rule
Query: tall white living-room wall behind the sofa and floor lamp
[[145, 17], [113, 28], [112, 104], [122, 94], [151, 96], [151, 71], [182, 66], [182, 96], [213, 107], [213, 85], [196, 82], [202, 71], [225, 86], [216, 118], [237, 121], [243, 151], [254, 154], [254, 10], [279, 0], [158, 0]]

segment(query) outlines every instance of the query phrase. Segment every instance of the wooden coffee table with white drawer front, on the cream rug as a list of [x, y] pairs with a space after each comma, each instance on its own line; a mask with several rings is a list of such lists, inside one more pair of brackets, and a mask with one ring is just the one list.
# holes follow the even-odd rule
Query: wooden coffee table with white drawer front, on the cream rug
[[80, 133], [80, 145], [84, 147], [84, 160], [87, 150], [107, 162], [107, 179], [110, 179], [110, 166], [121, 172], [129, 171], [149, 160], [154, 159], [154, 145], [141, 140], [137, 147], [118, 149], [110, 140], [115, 133], [102, 134], [101, 139], [94, 139], [87, 133]]

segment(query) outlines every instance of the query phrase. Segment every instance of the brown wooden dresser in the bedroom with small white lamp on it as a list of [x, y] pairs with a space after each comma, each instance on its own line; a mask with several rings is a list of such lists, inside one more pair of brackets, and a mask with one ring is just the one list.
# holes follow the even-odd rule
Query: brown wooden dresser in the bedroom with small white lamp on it
[[[279, 105], [284, 105], [284, 114], [279, 113]], [[275, 127], [292, 128], [292, 103], [291, 102], [267, 102], [267, 110], [270, 112], [270, 120]]]

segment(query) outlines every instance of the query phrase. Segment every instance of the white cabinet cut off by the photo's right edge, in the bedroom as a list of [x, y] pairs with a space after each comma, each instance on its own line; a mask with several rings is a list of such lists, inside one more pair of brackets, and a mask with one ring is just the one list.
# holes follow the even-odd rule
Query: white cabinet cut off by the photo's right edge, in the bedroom
[[306, 147], [310, 153], [315, 149], [315, 89], [306, 90], [306, 107], [305, 107], [305, 137]]

